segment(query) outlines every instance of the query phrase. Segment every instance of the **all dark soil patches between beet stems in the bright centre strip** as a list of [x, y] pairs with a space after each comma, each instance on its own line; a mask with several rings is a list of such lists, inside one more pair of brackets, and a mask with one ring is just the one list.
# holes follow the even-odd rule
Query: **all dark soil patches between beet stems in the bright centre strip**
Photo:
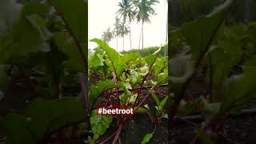
[[[160, 99], [163, 98], [163, 95], [167, 94], [167, 86], [162, 86], [158, 89], [158, 92], [161, 94]], [[148, 90], [142, 90], [142, 95], [138, 98], [138, 102], [142, 101], [145, 94]], [[143, 95], [144, 94], [144, 95]], [[105, 103], [105, 100], [102, 98], [98, 99], [98, 104]], [[150, 107], [150, 110], [154, 111], [154, 99], [149, 97], [145, 104], [147, 103]], [[126, 122], [125, 126], [122, 129], [120, 137], [118, 139], [118, 143], [122, 144], [140, 144], [142, 142], [143, 137], [146, 134], [150, 134], [154, 131], [154, 122], [151, 121], [150, 116], [148, 114], [134, 114], [130, 121]], [[116, 118], [114, 118], [114, 122], [112, 122], [110, 128], [103, 134], [96, 143], [100, 143], [108, 138], [111, 134], [118, 130], [118, 122]], [[154, 131], [154, 135], [150, 140], [150, 143], [159, 143], [159, 144], [166, 144], [168, 143], [168, 119], [162, 118], [162, 122], [156, 124], [156, 130]], [[114, 138], [111, 138], [106, 143], [111, 143]]]

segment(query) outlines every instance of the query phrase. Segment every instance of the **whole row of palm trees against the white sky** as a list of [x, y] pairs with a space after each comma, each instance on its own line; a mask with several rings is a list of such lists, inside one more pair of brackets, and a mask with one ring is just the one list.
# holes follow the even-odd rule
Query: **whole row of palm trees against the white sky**
[[156, 14], [153, 6], [157, 3], [159, 3], [158, 0], [122, 0], [121, 2], [118, 2], [119, 9], [115, 16], [114, 30], [111, 30], [109, 27], [104, 31], [102, 34], [102, 40], [110, 42], [113, 38], [116, 38], [118, 50], [118, 38], [122, 38], [122, 48], [123, 51], [125, 51], [125, 36], [129, 34], [130, 50], [132, 50], [130, 23], [134, 21], [141, 22], [142, 29], [140, 32], [138, 50], [141, 46], [143, 51], [143, 26], [146, 22], [150, 22], [151, 16]]

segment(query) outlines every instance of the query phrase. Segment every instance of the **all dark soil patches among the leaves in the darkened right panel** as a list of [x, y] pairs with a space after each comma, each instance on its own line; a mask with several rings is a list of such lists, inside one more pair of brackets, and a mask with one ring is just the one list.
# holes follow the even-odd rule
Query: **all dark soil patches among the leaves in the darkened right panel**
[[[185, 99], [198, 98], [209, 94], [209, 86], [205, 84], [203, 76], [199, 75], [190, 82]], [[244, 109], [256, 108], [256, 101], [246, 103]], [[196, 122], [200, 125], [200, 122]], [[189, 122], [179, 122], [174, 124], [171, 132], [171, 144], [188, 144], [195, 138], [197, 126]], [[212, 134], [212, 141], [218, 144], [252, 144], [256, 143], [256, 114], [241, 114], [226, 121], [221, 130], [222, 134]], [[194, 143], [200, 143], [197, 140]]]

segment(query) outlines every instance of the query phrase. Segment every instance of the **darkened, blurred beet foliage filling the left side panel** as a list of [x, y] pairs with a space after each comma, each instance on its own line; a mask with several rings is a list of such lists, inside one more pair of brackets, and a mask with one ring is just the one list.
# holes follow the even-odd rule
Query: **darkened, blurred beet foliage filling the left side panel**
[[[1, 1], [6, 26], [0, 35], [0, 106], [6, 143], [60, 142], [54, 135], [71, 138], [75, 127], [81, 128], [78, 134], [88, 129], [79, 91], [66, 90], [78, 84], [78, 73], [87, 77], [86, 10], [82, 0]], [[18, 85], [22, 88], [15, 93]]]

